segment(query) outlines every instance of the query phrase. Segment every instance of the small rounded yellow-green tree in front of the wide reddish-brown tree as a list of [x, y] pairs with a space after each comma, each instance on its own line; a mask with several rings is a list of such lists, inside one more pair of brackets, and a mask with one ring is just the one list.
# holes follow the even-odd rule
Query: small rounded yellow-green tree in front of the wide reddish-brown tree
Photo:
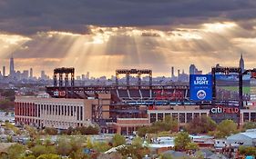
[[180, 132], [174, 139], [175, 149], [184, 151], [185, 147], [191, 142], [187, 132]]

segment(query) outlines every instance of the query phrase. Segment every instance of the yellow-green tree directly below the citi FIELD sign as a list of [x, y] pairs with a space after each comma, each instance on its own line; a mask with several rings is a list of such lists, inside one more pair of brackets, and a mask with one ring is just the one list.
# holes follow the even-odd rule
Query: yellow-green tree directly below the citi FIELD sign
[[230, 134], [236, 133], [237, 130], [237, 124], [235, 124], [232, 120], [223, 120], [217, 126], [217, 134], [219, 134], [217, 137], [226, 137]]

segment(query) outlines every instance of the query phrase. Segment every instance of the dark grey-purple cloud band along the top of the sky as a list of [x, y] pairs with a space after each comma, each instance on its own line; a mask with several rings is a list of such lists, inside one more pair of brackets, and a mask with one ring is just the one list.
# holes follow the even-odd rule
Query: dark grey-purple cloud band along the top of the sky
[[255, 18], [255, 0], [2, 0], [0, 31], [87, 33], [87, 25], [177, 25]]

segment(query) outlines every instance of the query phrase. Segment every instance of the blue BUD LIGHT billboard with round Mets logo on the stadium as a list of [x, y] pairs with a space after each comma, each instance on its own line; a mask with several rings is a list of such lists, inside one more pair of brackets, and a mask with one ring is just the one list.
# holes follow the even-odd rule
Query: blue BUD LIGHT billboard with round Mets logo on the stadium
[[190, 100], [210, 101], [212, 99], [211, 75], [189, 75]]

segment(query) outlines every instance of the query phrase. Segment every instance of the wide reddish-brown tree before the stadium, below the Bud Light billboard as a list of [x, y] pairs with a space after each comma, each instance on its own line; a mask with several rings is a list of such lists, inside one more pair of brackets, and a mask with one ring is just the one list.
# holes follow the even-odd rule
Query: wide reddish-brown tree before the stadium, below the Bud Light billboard
[[186, 130], [189, 134], [203, 134], [215, 130], [216, 127], [217, 124], [209, 116], [203, 115], [192, 119], [186, 125]]

